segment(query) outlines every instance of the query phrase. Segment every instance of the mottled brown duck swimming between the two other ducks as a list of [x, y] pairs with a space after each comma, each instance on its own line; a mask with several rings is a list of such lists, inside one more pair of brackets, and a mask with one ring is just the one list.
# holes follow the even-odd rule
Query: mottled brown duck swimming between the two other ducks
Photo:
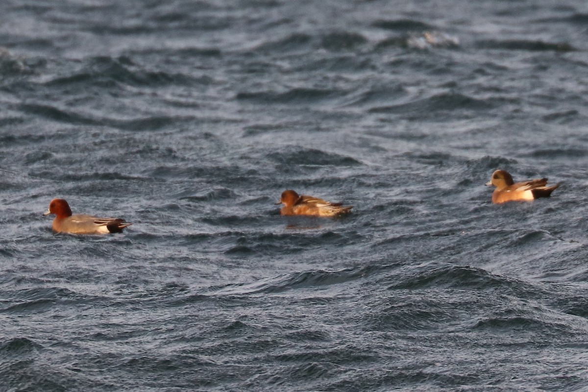
[[279, 202], [283, 204], [280, 215], [306, 215], [306, 216], [339, 216], [351, 212], [353, 206], [343, 206], [342, 203], [330, 203], [318, 197], [298, 195], [292, 189], [282, 192]]

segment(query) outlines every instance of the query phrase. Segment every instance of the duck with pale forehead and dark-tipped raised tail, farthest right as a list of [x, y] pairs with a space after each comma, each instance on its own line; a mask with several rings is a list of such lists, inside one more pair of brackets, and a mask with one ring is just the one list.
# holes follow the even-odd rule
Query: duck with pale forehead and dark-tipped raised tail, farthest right
[[496, 187], [494, 192], [492, 192], [492, 203], [500, 204], [549, 197], [560, 183], [547, 186], [546, 178], [515, 183], [509, 172], [499, 169], [492, 173], [492, 177], [486, 185], [494, 185]]

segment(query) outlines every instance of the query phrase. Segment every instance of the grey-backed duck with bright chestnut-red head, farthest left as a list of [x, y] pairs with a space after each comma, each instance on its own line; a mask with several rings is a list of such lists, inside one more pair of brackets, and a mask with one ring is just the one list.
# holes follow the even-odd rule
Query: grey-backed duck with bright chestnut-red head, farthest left
[[49, 209], [43, 214], [55, 214], [52, 229], [56, 233], [70, 234], [109, 234], [121, 233], [122, 229], [131, 226], [120, 218], [97, 217], [85, 214], [72, 215], [68, 202], [64, 199], [53, 199]]

